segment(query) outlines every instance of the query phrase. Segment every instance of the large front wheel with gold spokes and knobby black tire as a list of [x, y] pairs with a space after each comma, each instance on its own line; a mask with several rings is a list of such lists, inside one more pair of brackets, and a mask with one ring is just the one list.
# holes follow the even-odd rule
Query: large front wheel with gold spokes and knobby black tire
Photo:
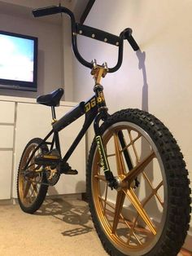
[[[162, 122], [138, 109], [114, 113], [101, 132], [109, 166], [119, 182], [118, 189], [108, 188], [94, 140], [87, 192], [104, 249], [114, 256], [176, 256], [190, 222], [188, 172], [176, 140]], [[127, 153], [137, 171], [131, 184]]]

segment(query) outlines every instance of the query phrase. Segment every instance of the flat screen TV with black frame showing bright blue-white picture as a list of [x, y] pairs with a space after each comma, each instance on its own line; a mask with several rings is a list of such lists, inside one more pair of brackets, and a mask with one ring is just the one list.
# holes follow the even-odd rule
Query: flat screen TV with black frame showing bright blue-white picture
[[0, 31], [0, 88], [37, 91], [37, 38]]

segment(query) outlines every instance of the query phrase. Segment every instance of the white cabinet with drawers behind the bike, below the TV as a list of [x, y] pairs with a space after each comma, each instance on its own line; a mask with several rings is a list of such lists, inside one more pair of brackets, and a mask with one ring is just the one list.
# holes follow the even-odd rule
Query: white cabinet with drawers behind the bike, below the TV
[[[2, 96], [3, 97], [3, 96]], [[35, 99], [5, 97], [1, 101], [3, 114], [0, 114], [0, 199], [16, 198], [16, 176], [20, 157], [30, 139], [44, 138], [52, 129], [51, 110], [35, 103]], [[6, 101], [7, 100], [7, 101]], [[61, 103], [55, 108], [57, 119], [68, 113], [75, 104]], [[74, 121], [59, 133], [62, 154], [68, 150], [84, 122], [84, 117]], [[69, 158], [77, 175], [61, 175], [55, 187], [50, 187], [48, 195], [74, 194], [85, 192], [85, 137]], [[3, 183], [3, 185], [2, 185]]]

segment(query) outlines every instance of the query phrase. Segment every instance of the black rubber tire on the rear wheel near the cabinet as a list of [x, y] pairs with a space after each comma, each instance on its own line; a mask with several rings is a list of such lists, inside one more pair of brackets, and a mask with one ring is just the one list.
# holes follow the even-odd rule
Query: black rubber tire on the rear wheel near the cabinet
[[[34, 212], [36, 212], [41, 207], [41, 204], [45, 200], [46, 192], [47, 192], [48, 187], [49, 187], [48, 185], [45, 185], [45, 184], [39, 184], [38, 185], [39, 188], [38, 188], [38, 192], [37, 192], [35, 200], [29, 205], [27, 203], [26, 204], [24, 203], [24, 198], [22, 198], [22, 195], [21, 195], [21, 191], [22, 191], [21, 185], [22, 184], [20, 183], [20, 179], [21, 179], [21, 176], [22, 176], [22, 174], [21, 174], [22, 167], [26, 163], [26, 161], [24, 160], [24, 157], [25, 157], [25, 155], [28, 151], [28, 148], [30, 148], [32, 145], [36, 145], [36, 147], [37, 147], [37, 145], [39, 145], [41, 143], [41, 141], [42, 141], [42, 139], [40, 139], [40, 138], [34, 138], [34, 139], [31, 139], [28, 142], [28, 144], [24, 148], [24, 152], [21, 156], [20, 166], [19, 166], [19, 170], [18, 170], [18, 174], [17, 174], [17, 196], [18, 196], [18, 201], [19, 201], [19, 204], [20, 204], [20, 208], [25, 213], [28, 213], [28, 214], [33, 214]], [[48, 152], [48, 147], [46, 146], [46, 144], [41, 145], [40, 151], [41, 152]], [[41, 182], [42, 183], [47, 182], [45, 173], [41, 174]]]

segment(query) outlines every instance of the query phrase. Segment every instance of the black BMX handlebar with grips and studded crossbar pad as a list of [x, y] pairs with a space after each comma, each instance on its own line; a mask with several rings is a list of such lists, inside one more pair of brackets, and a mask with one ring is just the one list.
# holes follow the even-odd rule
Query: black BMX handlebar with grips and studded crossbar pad
[[91, 62], [88, 62], [82, 58], [80, 55], [77, 43], [76, 43], [76, 36], [77, 34], [83, 35], [85, 37], [93, 38], [102, 42], [110, 43], [114, 46], [119, 47], [119, 53], [118, 53], [118, 61], [115, 67], [108, 68], [109, 73], [113, 73], [116, 70], [118, 70], [122, 64], [123, 61], [123, 48], [124, 48], [124, 39], [127, 39], [130, 46], [132, 46], [134, 51], [139, 50], [139, 46], [137, 45], [137, 42], [135, 42], [133, 36], [132, 36], [132, 29], [124, 29], [120, 33], [120, 36], [113, 35], [111, 33], [107, 33], [103, 30], [94, 29], [89, 26], [85, 26], [83, 24], [77, 24], [75, 20], [75, 16], [73, 15], [72, 11], [68, 10], [68, 8], [65, 7], [44, 7], [40, 9], [33, 10], [33, 15], [35, 17], [45, 16], [45, 15], [53, 15], [57, 13], [66, 13], [70, 16], [72, 21], [72, 49], [74, 54], [76, 55], [76, 59], [81, 62], [85, 67], [87, 68], [93, 68], [93, 64]]

